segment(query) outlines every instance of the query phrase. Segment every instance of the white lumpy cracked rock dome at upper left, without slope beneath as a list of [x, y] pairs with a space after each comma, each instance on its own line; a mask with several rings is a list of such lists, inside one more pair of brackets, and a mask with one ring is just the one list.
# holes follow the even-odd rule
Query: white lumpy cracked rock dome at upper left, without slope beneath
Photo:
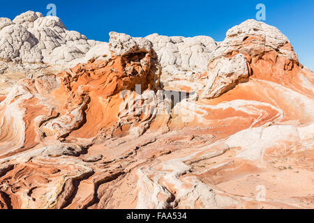
[[[99, 47], [95, 47], [99, 45]], [[68, 31], [58, 17], [27, 11], [0, 19], [0, 59], [22, 63], [74, 65], [87, 56], [110, 55], [107, 43], [88, 40], [77, 31]], [[73, 63], [70, 63], [73, 62]]]

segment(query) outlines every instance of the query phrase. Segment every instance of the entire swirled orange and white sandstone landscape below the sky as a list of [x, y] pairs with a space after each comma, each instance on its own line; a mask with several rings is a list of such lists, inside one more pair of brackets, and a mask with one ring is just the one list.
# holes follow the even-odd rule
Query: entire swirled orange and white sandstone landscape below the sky
[[27, 12], [0, 41], [0, 208], [314, 208], [314, 74], [274, 26], [100, 43]]

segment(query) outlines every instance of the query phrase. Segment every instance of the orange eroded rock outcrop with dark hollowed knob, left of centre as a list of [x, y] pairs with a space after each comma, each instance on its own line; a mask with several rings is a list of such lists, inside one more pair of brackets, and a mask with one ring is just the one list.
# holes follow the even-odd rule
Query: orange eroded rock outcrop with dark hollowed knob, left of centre
[[[118, 33], [116, 35], [119, 36]], [[123, 39], [126, 35], [120, 36]], [[115, 44], [114, 40], [112, 42], [111, 47]], [[21, 130], [22, 134], [19, 134], [20, 140], [14, 140], [13, 137], [3, 139], [1, 141], [3, 145], [13, 144], [13, 141], [19, 142], [16, 148], [3, 146], [2, 154], [13, 152], [15, 149], [29, 148], [27, 144], [29, 138], [32, 139], [31, 146], [34, 146], [40, 143], [40, 138], [53, 136], [60, 139], [75, 130], [77, 133], [80, 132], [78, 134], [73, 132], [75, 137], [91, 140], [99, 134], [109, 134], [109, 137], [112, 137], [117, 128], [124, 128], [124, 124], [128, 125], [128, 128], [136, 125], [139, 131], [144, 131], [140, 128], [147, 128], [145, 122], [154, 116], [150, 117], [151, 114], [148, 113], [147, 116], [135, 117], [136, 121], [124, 123], [123, 116], [131, 117], [128, 110], [124, 111], [121, 108], [122, 102], [132, 95], [125, 94], [125, 98], [121, 98], [119, 93], [130, 91], [132, 94], [135, 85], [138, 85], [140, 93], [144, 92], [143, 100], [146, 100], [146, 94], [149, 97], [149, 92], [154, 92], [151, 96], [152, 102], [155, 102], [155, 92], [159, 88], [159, 67], [151, 58], [151, 47], [142, 49], [135, 43], [124, 49], [128, 49], [124, 54], [112, 51], [112, 57], [108, 61], [91, 60], [58, 75], [43, 75], [18, 82], [6, 100], [1, 103], [3, 112], [1, 118], [4, 123], [1, 134], [8, 136], [12, 132], [13, 137], [17, 137], [15, 130]], [[128, 101], [128, 106], [132, 106], [133, 103], [135, 102]], [[147, 109], [150, 109], [149, 104]], [[12, 113], [13, 111], [15, 112]], [[18, 114], [20, 118], [17, 116], [13, 118], [14, 114]], [[30, 116], [26, 117], [28, 114]], [[87, 116], [93, 118], [87, 119]], [[13, 123], [6, 123], [6, 120], [10, 119], [14, 119], [18, 126], [10, 129], [9, 125]], [[144, 119], [142, 125], [145, 127], [140, 124], [142, 119]], [[87, 128], [89, 134], [86, 134], [82, 125]]]

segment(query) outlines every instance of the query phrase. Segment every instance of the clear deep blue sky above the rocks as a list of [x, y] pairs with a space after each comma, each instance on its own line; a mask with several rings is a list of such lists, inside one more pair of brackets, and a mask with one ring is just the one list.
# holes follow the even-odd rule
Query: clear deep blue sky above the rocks
[[54, 3], [57, 16], [70, 30], [87, 38], [108, 41], [108, 33], [117, 31], [130, 36], [159, 33], [167, 36], [211, 36], [225, 38], [232, 26], [253, 18], [257, 3], [266, 6], [266, 22], [280, 29], [290, 39], [299, 60], [314, 70], [313, 0], [103, 0], [103, 1], [1, 1], [0, 17], [10, 17], [27, 10], [46, 15], [46, 6]]

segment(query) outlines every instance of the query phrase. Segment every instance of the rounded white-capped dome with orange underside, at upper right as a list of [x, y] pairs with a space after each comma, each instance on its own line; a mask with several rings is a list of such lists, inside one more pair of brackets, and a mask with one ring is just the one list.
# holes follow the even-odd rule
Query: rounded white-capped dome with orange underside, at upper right
[[[302, 72], [300, 68], [303, 66], [299, 66], [297, 54], [283, 33], [274, 26], [247, 20], [227, 31], [225, 40], [211, 54], [209, 79], [202, 97], [217, 97], [251, 74], [262, 72], [258, 78], [281, 82], [281, 75], [291, 78]], [[274, 70], [278, 75], [273, 75]]]

